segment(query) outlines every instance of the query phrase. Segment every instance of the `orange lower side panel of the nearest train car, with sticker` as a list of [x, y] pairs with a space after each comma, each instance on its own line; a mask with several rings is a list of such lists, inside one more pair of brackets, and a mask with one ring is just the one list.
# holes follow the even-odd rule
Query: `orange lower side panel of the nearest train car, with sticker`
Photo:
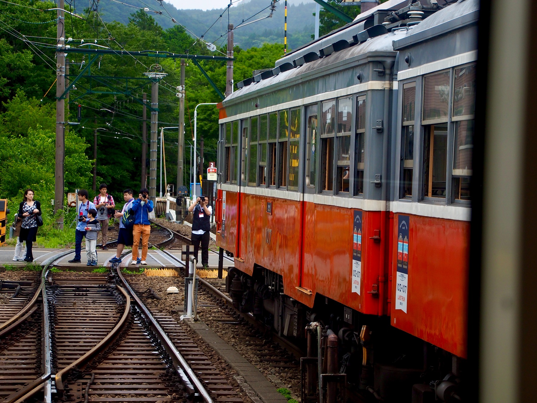
[[[394, 229], [403, 221], [400, 215], [394, 215]], [[401, 217], [408, 217], [408, 244], [401, 235], [404, 228], [394, 231], [391, 325], [466, 358], [470, 223]], [[403, 245], [403, 254], [398, 244]], [[399, 280], [403, 286], [398, 289], [397, 276], [404, 278], [404, 269], [398, 267], [404, 267], [405, 260], [408, 288]], [[397, 261], [403, 263], [398, 266]]]

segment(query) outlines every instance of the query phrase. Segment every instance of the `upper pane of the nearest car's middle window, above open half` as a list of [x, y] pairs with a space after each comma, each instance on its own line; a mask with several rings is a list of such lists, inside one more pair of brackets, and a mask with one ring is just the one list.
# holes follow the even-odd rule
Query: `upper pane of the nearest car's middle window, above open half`
[[[423, 121], [447, 121], [449, 101], [449, 71], [424, 78]], [[431, 122], [433, 123], [433, 122]]]

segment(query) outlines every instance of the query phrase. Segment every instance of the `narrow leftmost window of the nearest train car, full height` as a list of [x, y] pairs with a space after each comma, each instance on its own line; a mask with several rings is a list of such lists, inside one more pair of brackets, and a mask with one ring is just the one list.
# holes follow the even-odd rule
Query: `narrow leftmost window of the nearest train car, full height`
[[416, 82], [403, 85], [403, 127], [401, 129], [401, 198], [412, 197], [414, 170], [414, 116]]

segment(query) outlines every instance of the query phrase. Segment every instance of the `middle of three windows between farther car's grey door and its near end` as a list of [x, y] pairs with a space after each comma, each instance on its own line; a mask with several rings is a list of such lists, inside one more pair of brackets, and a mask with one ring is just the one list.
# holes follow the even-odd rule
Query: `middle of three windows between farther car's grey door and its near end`
[[351, 164], [352, 97], [337, 101], [337, 192], [349, 193]]

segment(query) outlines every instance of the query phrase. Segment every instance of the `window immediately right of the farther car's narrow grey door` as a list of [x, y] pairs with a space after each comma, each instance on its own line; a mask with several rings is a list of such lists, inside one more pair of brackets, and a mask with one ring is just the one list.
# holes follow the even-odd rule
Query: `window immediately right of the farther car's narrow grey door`
[[333, 189], [333, 147], [336, 120], [336, 101], [322, 103], [321, 112], [321, 190]]

